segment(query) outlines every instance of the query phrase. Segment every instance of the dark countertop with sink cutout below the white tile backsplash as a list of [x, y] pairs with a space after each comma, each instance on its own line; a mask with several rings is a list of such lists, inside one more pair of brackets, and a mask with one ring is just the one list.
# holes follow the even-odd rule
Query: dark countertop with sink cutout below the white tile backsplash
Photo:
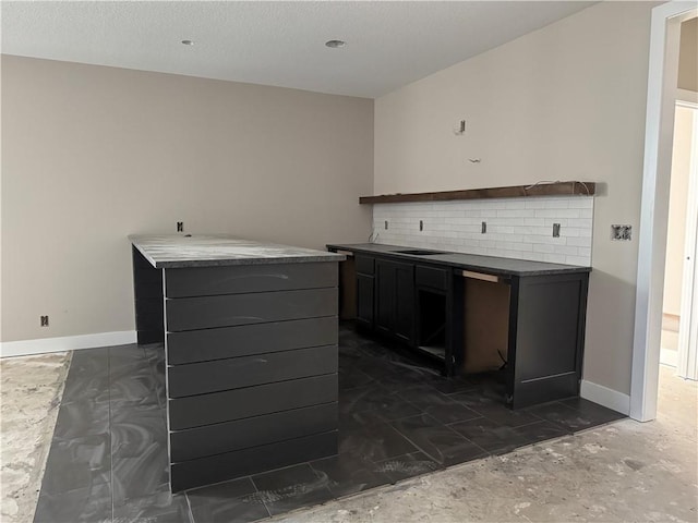
[[[485, 272], [494, 276], [544, 276], [565, 272], [590, 272], [591, 267], [576, 265], [549, 264], [545, 262], [531, 262], [528, 259], [501, 258], [497, 256], [481, 256], [478, 254], [449, 253], [444, 251], [400, 246], [382, 245], [378, 243], [359, 244], [328, 244], [327, 248], [348, 251], [352, 253], [374, 254], [389, 256], [396, 260], [421, 262], [432, 265], [442, 265], [457, 269]], [[401, 254], [398, 251], [433, 251], [440, 254], [419, 256]]]

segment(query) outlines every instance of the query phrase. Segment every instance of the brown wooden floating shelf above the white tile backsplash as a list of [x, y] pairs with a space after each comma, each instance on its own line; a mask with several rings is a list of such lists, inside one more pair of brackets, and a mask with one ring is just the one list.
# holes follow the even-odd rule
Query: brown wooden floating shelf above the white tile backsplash
[[438, 193], [381, 194], [361, 196], [360, 204], [400, 204], [406, 202], [447, 202], [450, 199], [521, 198], [528, 196], [592, 196], [594, 182], [554, 182], [510, 187], [466, 188]]

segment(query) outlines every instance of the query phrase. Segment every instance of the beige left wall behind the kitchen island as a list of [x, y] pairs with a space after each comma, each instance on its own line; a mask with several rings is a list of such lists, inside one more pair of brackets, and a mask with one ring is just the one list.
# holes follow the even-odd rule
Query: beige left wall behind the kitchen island
[[132, 330], [129, 233], [365, 241], [372, 160], [370, 99], [3, 56], [2, 340]]

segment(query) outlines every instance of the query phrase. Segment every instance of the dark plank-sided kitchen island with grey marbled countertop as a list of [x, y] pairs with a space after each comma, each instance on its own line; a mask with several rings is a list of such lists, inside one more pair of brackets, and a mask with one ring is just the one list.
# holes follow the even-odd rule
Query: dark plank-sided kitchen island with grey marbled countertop
[[139, 344], [165, 344], [171, 490], [336, 454], [345, 257], [224, 234], [129, 240]]

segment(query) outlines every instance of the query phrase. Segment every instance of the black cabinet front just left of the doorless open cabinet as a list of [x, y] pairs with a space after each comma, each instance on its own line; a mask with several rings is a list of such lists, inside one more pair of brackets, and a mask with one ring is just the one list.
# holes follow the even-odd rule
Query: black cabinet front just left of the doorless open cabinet
[[412, 344], [414, 266], [376, 259], [375, 273], [375, 330]]

